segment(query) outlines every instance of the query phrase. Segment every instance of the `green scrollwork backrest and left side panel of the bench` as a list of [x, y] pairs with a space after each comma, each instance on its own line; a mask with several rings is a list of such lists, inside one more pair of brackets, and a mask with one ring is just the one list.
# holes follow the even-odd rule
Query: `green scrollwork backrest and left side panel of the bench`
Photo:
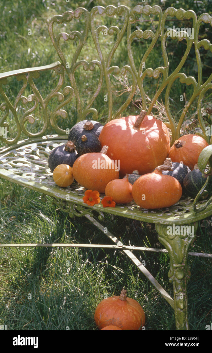
[[[114, 22], [115, 22], [115, 18], [117, 16], [120, 16], [122, 19], [122, 27], [118, 28], [117, 26], [113, 25], [110, 28], [107, 28], [107, 26], [102, 24], [102, 25], [99, 25], [97, 28], [95, 28], [95, 17], [97, 15], [100, 16], [101, 18], [103, 18], [103, 16], [111, 17], [113, 18]], [[142, 16], [151, 16], [151, 15], [157, 16], [158, 18], [155, 32], [153, 32], [152, 30], [142, 31], [141, 29], [139, 29], [139, 26], [141, 27], [142, 25], [142, 19], [140, 20], [140, 18]], [[182, 28], [180, 32], [177, 32], [174, 29], [172, 29], [171, 31], [170, 29], [166, 29], [167, 17], [170, 17], [170, 16], [175, 17], [178, 20], [184, 20], [184, 19], [192, 20], [192, 29], [194, 30], [194, 37], [189, 35], [186, 28]], [[57, 25], [61, 25], [63, 23], [72, 24], [72, 20], [76, 20], [79, 18], [84, 19], [84, 22], [83, 22], [84, 27], [81, 32], [72, 30], [69, 34], [66, 32], [59, 33], [58, 35], [55, 34], [55, 30], [54, 30], [55, 24]], [[135, 22], [137, 22], [138, 29], [133, 30], [133, 25]], [[148, 111], [148, 114], [151, 113], [155, 102], [160, 97], [161, 92], [164, 91], [165, 107], [166, 107], [166, 113], [168, 117], [168, 121], [165, 123], [172, 131], [172, 143], [173, 143], [173, 141], [180, 136], [180, 128], [189, 107], [191, 106], [195, 98], [198, 97], [197, 110], [198, 110], [198, 119], [199, 119], [200, 127], [203, 131], [202, 136], [207, 140], [208, 143], [211, 143], [212, 140], [210, 135], [206, 134], [206, 126], [203, 121], [202, 112], [201, 112], [201, 104], [205, 93], [212, 88], [212, 84], [211, 84], [212, 74], [210, 75], [210, 77], [208, 77], [206, 82], [202, 82], [200, 47], [204, 47], [205, 50], [210, 50], [212, 52], [212, 44], [207, 39], [203, 39], [200, 41], [198, 40], [199, 29], [202, 23], [210, 24], [212, 26], [212, 17], [209, 14], [204, 13], [204, 14], [201, 14], [201, 16], [197, 19], [197, 16], [194, 13], [194, 11], [192, 10], [184, 11], [183, 9], [176, 10], [174, 7], [169, 7], [162, 13], [160, 6], [151, 7], [149, 5], [145, 5], [145, 6], [137, 5], [131, 11], [129, 11], [128, 7], [123, 5], [118, 7], [109, 5], [106, 8], [102, 6], [95, 6], [94, 8], [92, 8], [90, 13], [85, 8], [78, 8], [73, 12], [66, 11], [63, 15], [53, 16], [49, 21], [48, 29], [49, 29], [49, 35], [50, 35], [51, 41], [53, 43], [54, 48], [57, 51], [57, 54], [59, 56], [59, 60], [61, 63], [61, 65], [59, 63], [58, 64], [55, 63], [57, 65], [55, 65], [54, 67], [55, 72], [59, 75], [58, 84], [56, 88], [46, 96], [46, 98], [43, 98], [40, 92], [38, 91], [33, 80], [39, 77], [39, 70], [29, 72], [28, 75], [26, 75], [25, 73], [20, 73], [19, 75], [17, 75], [17, 79], [23, 80], [23, 87], [19, 91], [19, 94], [15, 100], [15, 104], [12, 105], [9, 99], [7, 98], [7, 96], [5, 95], [4, 88], [2, 86], [2, 85], [6, 85], [7, 77], [1, 78], [0, 76], [0, 93], [4, 100], [4, 102], [0, 106], [0, 110], [3, 113], [5, 113], [3, 118], [0, 120], [0, 127], [9, 128], [8, 123], [6, 122], [6, 118], [8, 116], [9, 110], [11, 110], [11, 112], [13, 113], [15, 122], [17, 125], [16, 136], [10, 140], [4, 138], [4, 141], [7, 144], [12, 144], [17, 142], [20, 137], [21, 131], [28, 137], [43, 136], [48, 126], [52, 126], [54, 131], [60, 135], [66, 134], [66, 130], [63, 130], [58, 126], [56, 119], [57, 119], [57, 116], [61, 116], [64, 119], [68, 118], [68, 114], [66, 110], [62, 108], [64, 108], [66, 104], [70, 103], [73, 97], [76, 100], [78, 121], [85, 119], [86, 116], [90, 113], [92, 114], [92, 119], [98, 119], [98, 110], [94, 108], [93, 103], [102, 88], [103, 78], [104, 78], [107, 86], [108, 120], [117, 118], [118, 116], [120, 116], [120, 114], [123, 113], [124, 109], [126, 109], [129, 106], [130, 102], [132, 101], [137, 87], [141, 94], [142, 107]], [[103, 50], [101, 48], [101, 44], [99, 41], [99, 34], [101, 32], [104, 33], [104, 31], [107, 31], [107, 35], [111, 37], [114, 34], [116, 35], [116, 39], [113, 42], [113, 47], [110, 50], [107, 57], [103, 53]], [[98, 55], [98, 60], [92, 60], [90, 62], [84, 59], [78, 60], [89, 35], [92, 36], [92, 40], [96, 48], [96, 53]], [[148, 45], [147, 50], [143, 52], [143, 56], [141, 58], [139, 67], [136, 67], [136, 64], [135, 64], [136, 53], [133, 52], [132, 43], [135, 39], [142, 38], [142, 40], [147, 40], [149, 37], [151, 38], [152, 41]], [[178, 63], [175, 70], [171, 73], [169, 72], [170, 71], [169, 61], [168, 61], [168, 55], [166, 50], [168, 37], [170, 37], [169, 40], [177, 39], [178, 41], [182, 41], [184, 38], [186, 40], [186, 49], [182, 56], [182, 59]], [[70, 65], [67, 65], [69, 60], [66, 58], [62, 49], [63, 40], [69, 43], [72, 42], [72, 44], [74, 42], [76, 44], [76, 41], [78, 41], [75, 54], [72, 57]], [[118, 67], [116, 65], [113, 66], [114, 54], [116, 52], [116, 49], [120, 45], [121, 41], [126, 42], [127, 51], [128, 51], [128, 62], [126, 62], [126, 65], [124, 65], [123, 67]], [[156, 67], [155, 69], [145, 68], [145, 65], [143, 64], [145, 64], [148, 58], [148, 55], [154, 49], [155, 44], [159, 42], [160, 42], [161, 51], [162, 51], [163, 66]], [[184, 66], [184, 64], [186, 64], [186, 59], [188, 58], [188, 54], [192, 46], [194, 47], [195, 55], [197, 59], [198, 80], [196, 80], [194, 77], [191, 77], [191, 76], [187, 77], [185, 73], [181, 72], [182, 67]], [[83, 106], [84, 97], [81, 96], [79, 92], [78, 84], [76, 82], [76, 72], [80, 67], [82, 67], [84, 71], [90, 71], [91, 73], [95, 70], [95, 67], [98, 67], [98, 72], [99, 72], [98, 83], [96, 85], [96, 88], [94, 88], [94, 92], [92, 93], [89, 101], [86, 102], [85, 106]], [[27, 72], [26, 69], [25, 69], [25, 72]], [[117, 111], [113, 112], [113, 94], [112, 94], [112, 88], [111, 88], [111, 75], [116, 74], [116, 75], [124, 76], [127, 73], [131, 75], [131, 82], [132, 82], [131, 91], [129, 92], [129, 96], [127, 97], [126, 101], [123, 102], [122, 106], [119, 107]], [[65, 74], [69, 78], [70, 85], [63, 88], [63, 93], [61, 93], [59, 92], [59, 90], [63, 86]], [[8, 75], [8, 76], [11, 76], [11, 75]], [[153, 78], [155, 80], [158, 80], [156, 92], [154, 94], [154, 97], [152, 98], [152, 101], [148, 106], [146, 101], [146, 94], [145, 94], [146, 92], [144, 89], [145, 85], [143, 84], [145, 78]], [[186, 102], [186, 105], [181, 113], [179, 123], [176, 126], [169, 107], [169, 95], [170, 95], [171, 88], [175, 80], [177, 79], [179, 79], [180, 83], [184, 85], [192, 85], [193, 94], [190, 97], [189, 101]], [[18, 102], [21, 101], [23, 104], [26, 104], [28, 102], [27, 97], [22, 96], [27, 83], [31, 86], [31, 89], [33, 90], [33, 95], [31, 95], [31, 101], [34, 101], [34, 106], [28, 109], [24, 113], [24, 115], [20, 119], [18, 119], [17, 112], [16, 112]], [[86, 95], [86, 91], [83, 92], [83, 96], [85, 95]], [[67, 96], [66, 99], [64, 98], [64, 96]], [[49, 113], [47, 110], [47, 104], [53, 97], [57, 97], [59, 104], [51, 113]], [[30, 124], [34, 124], [34, 116], [32, 115], [32, 113], [38, 104], [40, 104], [43, 111], [44, 124], [42, 127], [40, 126], [39, 132], [32, 133], [27, 130], [26, 122], [29, 122]]]

